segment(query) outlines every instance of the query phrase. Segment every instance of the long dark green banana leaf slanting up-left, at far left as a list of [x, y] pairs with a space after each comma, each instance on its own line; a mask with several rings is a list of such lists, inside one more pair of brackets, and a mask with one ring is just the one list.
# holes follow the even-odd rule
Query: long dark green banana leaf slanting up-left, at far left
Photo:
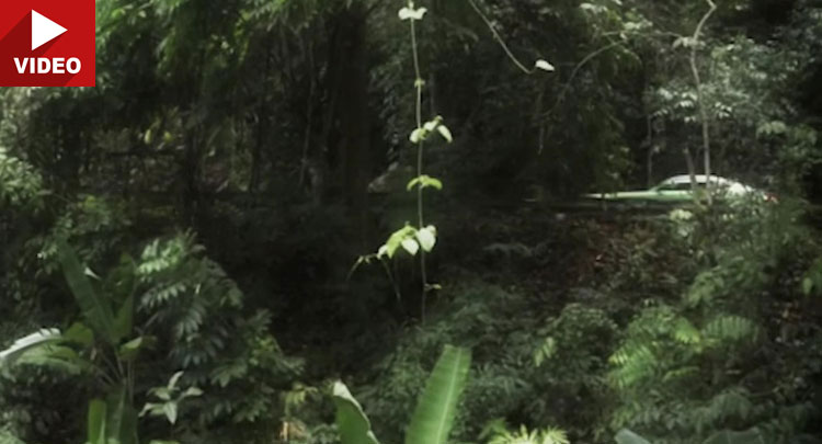
[[57, 258], [62, 265], [71, 294], [82, 310], [83, 317], [93, 330], [98, 330], [102, 340], [116, 343], [114, 314], [111, 306], [101, 298], [84, 273], [75, 250], [62, 239], [57, 241]]

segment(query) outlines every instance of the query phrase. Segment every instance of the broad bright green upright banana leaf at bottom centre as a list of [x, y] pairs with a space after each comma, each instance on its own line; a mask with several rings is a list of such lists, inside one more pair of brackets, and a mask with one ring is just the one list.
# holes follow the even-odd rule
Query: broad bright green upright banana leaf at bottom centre
[[468, 378], [471, 352], [446, 345], [425, 385], [406, 444], [445, 444]]

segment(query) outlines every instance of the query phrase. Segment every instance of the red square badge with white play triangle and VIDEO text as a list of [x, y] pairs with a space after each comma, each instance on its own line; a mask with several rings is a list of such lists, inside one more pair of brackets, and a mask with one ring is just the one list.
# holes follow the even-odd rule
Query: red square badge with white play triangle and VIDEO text
[[0, 87], [93, 87], [94, 0], [0, 5]]

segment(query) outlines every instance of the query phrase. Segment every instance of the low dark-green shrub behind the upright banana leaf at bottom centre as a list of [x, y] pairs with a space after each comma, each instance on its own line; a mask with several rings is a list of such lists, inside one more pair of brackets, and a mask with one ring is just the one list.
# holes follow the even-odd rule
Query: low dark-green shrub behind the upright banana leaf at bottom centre
[[[380, 436], [402, 436], [425, 368], [445, 343], [468, 345], [473, 352], [456, 439], [476, 440], [498, 419], [586, 434], [585, 421], [603, 411], [598, 401], [607, 394], [604, 372], [615, 339], [616, 326], [602, 310], [571, 305], [551, 317], [538, 298], [481, 282], [442, 296], [452, 299], [424, 327], [408, 329], [377, 367], [376, 382], [357, 388]], [[553, 338], [552, 346], [546, 348], [545, 337]]]

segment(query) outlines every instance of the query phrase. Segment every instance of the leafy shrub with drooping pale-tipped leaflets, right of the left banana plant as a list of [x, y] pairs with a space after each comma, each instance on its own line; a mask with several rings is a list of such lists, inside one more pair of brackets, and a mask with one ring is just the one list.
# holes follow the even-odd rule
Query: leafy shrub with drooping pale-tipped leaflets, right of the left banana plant
[[279, 421], [272, 419], [285, 414], [279, 395], [302, 362], [269, 332], [270, 315], [243, 310], [242, 292], [192, 235], [151, 242], [136, 273], [144, 328], [163, 345], [153, 365], [184, 371], [183, 383], [205, 391], [190, 402], [192, 429], [228, 422], [224, 439], [277, 433]]

